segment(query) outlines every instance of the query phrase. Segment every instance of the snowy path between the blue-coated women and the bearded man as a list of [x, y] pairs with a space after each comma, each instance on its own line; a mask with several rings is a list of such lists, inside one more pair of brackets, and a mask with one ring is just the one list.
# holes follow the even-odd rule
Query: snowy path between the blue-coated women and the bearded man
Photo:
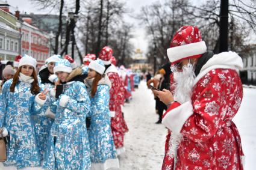
[[155, 100], [145, 81], [133, 92], [131, 102], [125, 103], [123, 112], [129, 132], [125, 135], [126, 152], [119, 159], [120, 169], [161, 169], [167, 129], [155, 124]]

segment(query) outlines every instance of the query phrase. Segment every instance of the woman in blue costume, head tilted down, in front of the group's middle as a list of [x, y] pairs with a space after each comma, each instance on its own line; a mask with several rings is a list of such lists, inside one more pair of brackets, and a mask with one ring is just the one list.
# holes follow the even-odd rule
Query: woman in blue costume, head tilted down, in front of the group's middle
[[[60, 86], [51, 90], [51, 111], [55, 113], [45, 153], [43, 168], [89, 170], [90, 148], [86, 130], [86, 115], [90, 99], [80, 74], [72, 71], [70, 62], [61, 59], [55, 63], [54, 73]], [[81, 82], [82, 81], [82, 82]], [[63, 89], [63, 90], [61, 90]], [[59, 91], [60, 90], [60, 91]], [[60, 94], [56, 96], [55, 94]]]

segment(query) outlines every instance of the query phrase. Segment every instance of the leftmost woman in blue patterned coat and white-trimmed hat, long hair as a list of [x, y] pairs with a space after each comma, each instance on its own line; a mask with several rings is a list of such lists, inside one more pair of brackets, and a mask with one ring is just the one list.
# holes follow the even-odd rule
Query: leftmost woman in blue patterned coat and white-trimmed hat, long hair
[[7, 136], [7, 160], [0, 169], [40, 169], [34, 124], [31, 115], [38, 114], [46, 102], [36, 74], [36, 59], [23, 56], [13, 79], [2, 88], [0, 127]]

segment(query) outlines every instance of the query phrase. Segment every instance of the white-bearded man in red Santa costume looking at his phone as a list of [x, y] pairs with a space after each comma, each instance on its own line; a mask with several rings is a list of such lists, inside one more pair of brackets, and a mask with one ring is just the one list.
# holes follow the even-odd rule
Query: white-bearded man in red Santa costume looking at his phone
[[183, 26], [167, 55], [174, 91], [155, 91], [167, 105], [162, 123], [170, 130], [162, 169], [243, 169], [242, 144], [232, 119], [243, 98], [235, 52], [207, 52], [201, 32]]

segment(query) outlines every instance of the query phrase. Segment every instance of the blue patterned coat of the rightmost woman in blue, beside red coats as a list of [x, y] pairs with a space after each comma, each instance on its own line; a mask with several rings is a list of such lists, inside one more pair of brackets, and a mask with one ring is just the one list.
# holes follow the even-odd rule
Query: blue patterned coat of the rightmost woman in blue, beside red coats
[[88, 133], [92, 163], [104, 163], [107, 159], [116, 159], [108, 108], [109, 91], [108, 85], [98, 85], [95, 97], [90, 97], [91, 124]]

